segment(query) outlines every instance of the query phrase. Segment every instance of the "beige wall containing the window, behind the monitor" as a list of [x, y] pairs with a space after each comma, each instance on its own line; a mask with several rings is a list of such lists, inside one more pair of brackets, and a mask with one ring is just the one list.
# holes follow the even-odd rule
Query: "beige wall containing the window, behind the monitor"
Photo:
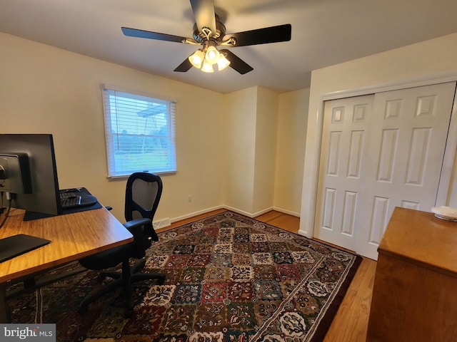
[[125, 180], [106, 177], [100, 85], [107, 83], [177, 102], [178, 172], [162, 177], [156, 219], [223, 204], [223, 145], [215, 129], [223, 127], [223, 94], [5, 33], [0, 46], [0, 133], [52, 133], [61, 188], [88, 187], [123, 219]]

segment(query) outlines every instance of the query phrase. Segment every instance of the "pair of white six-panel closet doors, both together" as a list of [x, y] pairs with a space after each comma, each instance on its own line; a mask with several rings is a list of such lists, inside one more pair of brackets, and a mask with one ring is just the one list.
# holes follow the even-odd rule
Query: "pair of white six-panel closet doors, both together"
[[455, 90], [326, 101], [314, 237], [377, 259], [394, 207], [435, 206]]

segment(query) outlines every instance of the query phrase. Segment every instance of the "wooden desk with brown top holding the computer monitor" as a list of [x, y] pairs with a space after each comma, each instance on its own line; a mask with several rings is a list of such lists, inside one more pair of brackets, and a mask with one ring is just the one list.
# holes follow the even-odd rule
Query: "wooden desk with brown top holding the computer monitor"
[[46, 271], [134, 239], [104, 207], [32, 221], [23, 221], [24, 210], [21, 209], [11, 209], [10, 215], [0, 229], [0, 238], [29, 234], [49, 239], [51, 243], [0, 263], [0, 322], [8, 319], [7, 281]]

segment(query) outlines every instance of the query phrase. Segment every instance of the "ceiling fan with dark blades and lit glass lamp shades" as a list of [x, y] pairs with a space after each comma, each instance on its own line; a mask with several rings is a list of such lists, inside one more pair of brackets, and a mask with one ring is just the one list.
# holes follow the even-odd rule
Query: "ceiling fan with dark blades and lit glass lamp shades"
[[[124, 35], [131, 37], [201, 45], [199, 50], [189, 56], [189, 58], [186, 58], [183, 63], [174, 69], [174, 71], [178, 72], [189, 71], [192, 66], [195, 66], [196, 68], [201, 68], [201, 71], [212, 73], [214, 72], [214, 66], [217, 65], [219, 71], [230, 66], [243, 75], [249, 71], [253, 71], [253, 68], [227, 48], [291, 40], [291, 24], [226, 34], [226, 26], [219, 21], [219, 16], [214, 11], [214, 0], [190, 1], [196, 21], [194, 24], [193, 38], [144, 31], [129, 27], [122, 27], [122, 32]], [[218, 46], [226, 48], [219, 50], [217, 48]]]

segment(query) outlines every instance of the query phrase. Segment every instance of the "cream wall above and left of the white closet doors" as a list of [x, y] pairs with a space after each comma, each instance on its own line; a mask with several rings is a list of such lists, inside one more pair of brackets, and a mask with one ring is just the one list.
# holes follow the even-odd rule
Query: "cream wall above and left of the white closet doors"
[[[312, 237], [317, 165], [324, 98], [366, 93], [370, 88], [416, 85], [433, 79], [457, 79], [457, 33], [359, 58], [311, 74], [308, 128], [303, 169], [300, 234]], [[455, 135], [456, 132], [451, 132]], [[455, 191], [455, 190], [454, 190]], [[456, 195], [451, 197], [456, 198]]]

